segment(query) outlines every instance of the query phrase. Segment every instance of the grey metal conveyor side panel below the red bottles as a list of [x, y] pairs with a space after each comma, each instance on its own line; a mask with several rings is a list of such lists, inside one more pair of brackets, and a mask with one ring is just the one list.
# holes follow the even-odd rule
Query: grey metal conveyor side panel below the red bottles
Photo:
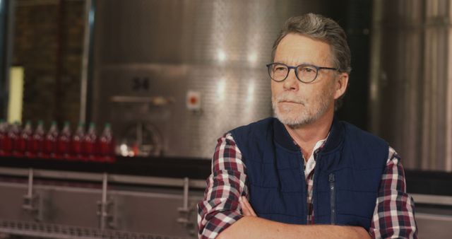
[[[69, 185], [71, 183], [69, 182]], [[53, 225], [66, 230], [86, 228], [88, 231], [99, 231], [100, 221], [97, 202], [102, 198], [100, 183], [79, 184], [78, 186], [55, 186], [51, 181], [46, 185], [36, 184], [35, 194], [42, 199], [42, 217], [39, 221], [35, 216], [22, 208], [23, 195], [26, 194], [26, 182], [0, 182], [0, 192], [3, 195], [0, 204], [0, 221], [17, 221], [20, 223], [41, 223]], [[202, 191], [190, 191], [187, 201], [188, 211], [179, 211], [184, 205], [183, 190], [162, 187], [115, 187], [109, 186], [107, 199], [107, 231], [116, 230], [124, 233], [147, 233], [167, 235], [168, 237], [196, 238], [196, 203], [203, 197]], [[187, 223], [179, 223], [178, 218], [186, 219]], [[16, 225], [16, 224], [15, 224]], [[53, 227], [52, 226], [52, 227]], [[1, 228], [3, 227], [3, 228]], [[8, 225], [4, 231], [23, 235], [25, 229], [13, 228]], [[46, 227], [47, 228], [47, 227]], [[18, 231], [23, 229], [25, 231]], [[30, 235], [52, 237], [59, 231], [28, 231]]]

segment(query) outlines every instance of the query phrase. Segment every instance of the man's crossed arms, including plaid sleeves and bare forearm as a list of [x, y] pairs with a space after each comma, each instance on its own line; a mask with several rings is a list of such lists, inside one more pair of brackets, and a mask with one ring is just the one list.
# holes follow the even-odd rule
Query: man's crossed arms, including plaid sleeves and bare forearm
[[[245, 165], [230, 134], [218, 140], [212, 175], [198, 204], [199, 238], [417, 238], [413, 202], [400, 160], [390, 148], [369, 232], [364, 228], [292, 225], [258, 218], [247, 204]], [[403, 218], [403, 223], [393, 221]]]

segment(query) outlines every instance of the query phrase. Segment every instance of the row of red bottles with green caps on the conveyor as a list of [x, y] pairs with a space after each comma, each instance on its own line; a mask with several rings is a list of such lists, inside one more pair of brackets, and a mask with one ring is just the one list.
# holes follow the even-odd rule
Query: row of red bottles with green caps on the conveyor
[[57, 122], [52, 122], [46, 134], [42, 121], [37, 123], [33, 132], [30, 121], [25, 122], [25, 127], [21, 129], [19, 122], [9, 125], [0, 120], [0, 156], [113, 162], [114, 146], [108, 123], [101, 136], [97, 137], [94, 123], [90, 123], [88, 132], [80, 123], [76, 132], [71, 134], [69, 122], [64, 122], [61, 132]]

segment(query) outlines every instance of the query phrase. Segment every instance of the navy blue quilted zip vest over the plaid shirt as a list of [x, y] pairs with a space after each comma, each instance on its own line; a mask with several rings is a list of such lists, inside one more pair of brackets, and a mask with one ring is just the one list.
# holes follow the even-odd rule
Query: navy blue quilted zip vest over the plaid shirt
[[[307, 223], [302, 152], [275, 118], [233, 129], [246, 165], [251, 206], [261, 218]], [[352, 124], [333, 120], [316, 155], [314, 222], [369, 229], [388, 144]]]

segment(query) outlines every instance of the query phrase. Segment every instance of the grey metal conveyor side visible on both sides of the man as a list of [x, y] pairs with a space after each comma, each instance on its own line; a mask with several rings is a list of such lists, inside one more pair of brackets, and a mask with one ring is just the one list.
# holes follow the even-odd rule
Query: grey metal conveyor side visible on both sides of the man
[[[101, 197], [100, 188], [61, 187], [37, 185], [37, 194], [44, 198], [43, 220], [37, 222], [21, 209], [20, 200], [27, 191], [26, 183], [0, 182], [0, 232], [42, 238], [196, 238], [196, 202], [202, 192], [190, 192], [188, 214], [191, 226], [177, 223], [177, 218], [185, 214], [177, 211], [182, 206], [181, 190], [149, 188], [133, 190], [114, 187], [109, 191], [109, 200], [114, 202], [109, 209], [114, 218], [110, 221], [114, 228], [100, 231], [95, 215], [96, 202]], [[413, 194], [417, 201], [429, 204], [450, 204], [450, 197], [422, 196]], [[422, 209], [417, 214], [420, 238], [450, 238], [451, 232], [444, 230], [452, 226], [450, 213], [441, 214], [440, 209]], [[40, 229], [41, 228], [41, 229]], [[112, 231], [114, 230], [114, 231]], [[75, 233], [75, 234], [73, 234]], [[146, 235], [147, 234], [147, 235]]]

